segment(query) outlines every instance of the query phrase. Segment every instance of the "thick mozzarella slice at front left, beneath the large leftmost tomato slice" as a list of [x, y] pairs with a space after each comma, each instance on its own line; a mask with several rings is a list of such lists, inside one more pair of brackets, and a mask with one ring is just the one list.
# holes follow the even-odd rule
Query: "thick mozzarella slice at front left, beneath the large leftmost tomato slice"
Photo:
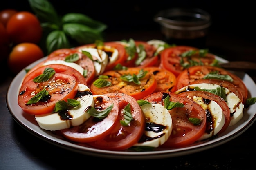
[[[35, 115], [35, 119], [40, 128], [52, 131], [61, 130], [70, 128], [71, 126], [78, 126], [86, 121], [90, 117], [90, 114], [85, 112], [85, 110], [88, 106], [94, 106], [94, 99], [90, 89], [84, 84], [79, 84], [79, 92], [85, 92], [85, 95], [76, 98], [76, 100], [80, 102], [80, 106], [67, 110], [65, 113]], [[66, 119], [67, 116], [65, 114], [69, 116], [68, 119]], [[65, 117], [65, 119], [63, 119], [62, 116]]]

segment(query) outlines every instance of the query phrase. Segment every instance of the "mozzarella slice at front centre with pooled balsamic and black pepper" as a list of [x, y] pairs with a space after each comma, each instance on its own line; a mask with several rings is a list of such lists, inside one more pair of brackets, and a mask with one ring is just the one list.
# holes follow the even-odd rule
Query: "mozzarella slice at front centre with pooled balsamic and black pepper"
[[134, 146], [158, 147], [164, 144], [173, 129], [170, 113], [161, 104], [144, 104], [141, 109], [146, 119], [146, 130]]

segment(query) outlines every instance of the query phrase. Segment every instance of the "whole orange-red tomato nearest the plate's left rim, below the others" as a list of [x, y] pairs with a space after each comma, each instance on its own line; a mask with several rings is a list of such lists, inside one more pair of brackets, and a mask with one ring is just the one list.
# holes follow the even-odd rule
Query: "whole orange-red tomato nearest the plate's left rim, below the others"
[[20, 43], [12, 49], [8, 57], [8, 66], [13, 73], [17, 74], [43, 56], [43, 51], [37, 44]]

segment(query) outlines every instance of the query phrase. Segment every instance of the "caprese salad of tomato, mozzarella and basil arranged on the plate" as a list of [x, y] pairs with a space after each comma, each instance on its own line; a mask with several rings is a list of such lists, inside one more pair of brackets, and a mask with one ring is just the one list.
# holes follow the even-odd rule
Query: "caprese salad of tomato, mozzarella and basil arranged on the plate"
[[18, 105], [43, 130], [103, 150], [180, 148], [243, 117], [243, 81], [207, 49], [161, 40], [58, 49], [26, 70]]

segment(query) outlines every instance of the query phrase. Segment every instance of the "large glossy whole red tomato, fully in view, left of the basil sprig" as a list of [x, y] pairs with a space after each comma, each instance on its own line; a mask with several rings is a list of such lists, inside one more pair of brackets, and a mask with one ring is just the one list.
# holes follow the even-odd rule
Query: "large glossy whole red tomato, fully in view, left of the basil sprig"
[[21, 11], [7, 23], [7, 33], [14, 44], [31, 42], [37, 44], [42, 37], [42, 27], [33, 13]]

